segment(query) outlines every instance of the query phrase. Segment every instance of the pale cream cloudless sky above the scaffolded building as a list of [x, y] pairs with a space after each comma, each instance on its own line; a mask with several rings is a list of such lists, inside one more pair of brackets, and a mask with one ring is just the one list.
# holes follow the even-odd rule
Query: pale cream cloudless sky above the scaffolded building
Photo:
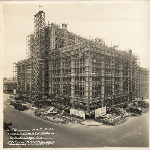
[[34, 30], [34, 15], [45, 12], [46, 22], [68, 23], [68, 31], [102, 38], [108, 46], [132, 49], [140, 65], [150, 69], [150, 2], [85, 4], [4, 4], [3, 77], [13, 76], [13, 62], [26, 58], [26, 36]]

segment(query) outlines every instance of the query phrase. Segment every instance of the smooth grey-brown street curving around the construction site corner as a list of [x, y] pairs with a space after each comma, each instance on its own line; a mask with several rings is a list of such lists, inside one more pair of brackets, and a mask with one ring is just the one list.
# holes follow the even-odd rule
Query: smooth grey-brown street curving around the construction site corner
[[[124, 124], [117, 126], [57, 124], [35, 117], [33, 112], [27, 113], [30, 110], [18, 111], [6, 102], [7, 95], [3, 97], [4, 121], [12, 122], [18, 130], [54, 128], [54, 135], [46, 135], [55, 138], [52, 147], [149, 147], [149, 112], [142, 116], [129, 117]], [[3, 147], [10, 147], [5, 140]]]

